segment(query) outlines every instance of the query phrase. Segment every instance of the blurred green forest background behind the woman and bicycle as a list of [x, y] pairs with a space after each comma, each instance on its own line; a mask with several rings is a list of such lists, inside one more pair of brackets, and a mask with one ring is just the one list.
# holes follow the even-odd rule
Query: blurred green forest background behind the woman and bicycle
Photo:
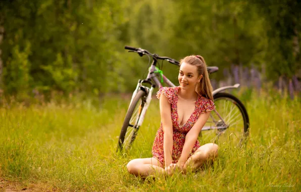
[[[4, 0], [0, 3], [0, 95], [132, 92], [147, 74], [141, 47], [180, 60], [202, 55], [214, 88], [270, 82], [301, 90], [301, 2], [294, 0]], [[178, 84], [178, 68], [164, 62]]]

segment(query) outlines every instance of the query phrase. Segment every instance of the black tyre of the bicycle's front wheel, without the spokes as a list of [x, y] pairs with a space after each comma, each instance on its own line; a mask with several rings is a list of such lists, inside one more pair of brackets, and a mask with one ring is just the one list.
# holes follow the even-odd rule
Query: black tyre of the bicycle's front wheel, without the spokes
[[136, 133], [137, 133], [137, 131], [139, 129], [139, 127], [136, 127], [137, 123], [138, 123], [137, 121], [136, 121], [135, 125], [133, 125], [134, 129], [136, 129], [136, 131], [132, 131], [131, 133], [129, 133], [130, 134], [130, 135], [128, 135], [129, 138], [130, 138], [129, 143], [127, 143], [126, 146], [124, 145], [124, 139], [125, 139], [126, 133], [128, 131], [130, 120], [132, 119], [132, 116], [133, 116], [134, 110], [136, 108], [136, 105], [138, 104], [139, 100], [141, 100], [141, 103], [140, 103], [141, 108], [140, 108], [139, 113], [136, 116], [137, 120], [138, 120], [139, 117], [140, 117], [140, 115], [141, 115], [141, 111], [142, 111], [142, 109], [144, 107], [144, 104], [145, 104], [145, 101], [144, 101], [145, 95], [146, 95], [145, 91], [138, 90], [137, 94], [133, 98], [133, 101], [130, 104], [128, 110], [127, 110], [127, 113], [126, 113], [126, 116], [124, 118], [121, 131], [120, 131], [120, 135], [119, 135], [119, 138], [118, 138], [117, 152], [118, 151], [122, 151], [124, 148], [130, 148], [131, 145], [132, 145], [132, 143], [133, 143], [133, 141], [135, 140]]

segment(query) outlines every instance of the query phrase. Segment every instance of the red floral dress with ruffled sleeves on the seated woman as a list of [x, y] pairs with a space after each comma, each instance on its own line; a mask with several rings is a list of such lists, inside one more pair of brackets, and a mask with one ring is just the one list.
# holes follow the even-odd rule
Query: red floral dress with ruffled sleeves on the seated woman
[[[213, 101], [208, 98], [205, 98], [201, 95], [198, 95], [198, 98], [195, 102], [195, 109], [191, 114], [188, 121], [183, 125], [179, 125], [179, 117], [177, 111], [177, 103], [178, 103], [178, 89], [180, 86], [176, 87], [162, 87], [157, 92], [157, 98], [160, 99], [161, 93], [164, 93], [166, 97], [169, 98], [169, 103], [171, 104], [171, 118], [173, 125], [173, 149], [172, 149], [172, 163], [177, 163], [184, 146], [185, 136], [188, 131], [192, 128], [194, 123], [196, 122], [199, 114], [204, 113], [205, 111], [212, 111], [215, 109], [215, 105]], [[152, 154], [154, 158], [156, 158], [163, 165], [164, 163], [164, 150], [163, 150], [163, 127], [162, 121], [160, 128], [156, 133], [156, 137], [153, 144]], [[200, 147], [199, 141], [196, 140], [191, 153], [188, 158]]]

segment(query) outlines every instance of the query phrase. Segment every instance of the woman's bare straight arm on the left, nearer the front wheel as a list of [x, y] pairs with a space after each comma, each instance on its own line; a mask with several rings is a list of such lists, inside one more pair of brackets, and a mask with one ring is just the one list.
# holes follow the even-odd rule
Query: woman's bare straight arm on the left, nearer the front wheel
[[164, 148], [164, 161], [165, 167], [172, 163], [172, 148], [173, 148], [173, 130], [171, 120], [171, 105], [169, 98], [164, 94], [160, 96], [160, 113], [163, 126], [163, 148]]

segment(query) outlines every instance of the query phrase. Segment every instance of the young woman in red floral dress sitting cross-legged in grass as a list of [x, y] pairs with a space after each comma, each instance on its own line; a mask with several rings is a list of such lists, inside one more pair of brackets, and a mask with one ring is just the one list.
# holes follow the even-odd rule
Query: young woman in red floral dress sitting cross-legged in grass
[[[152, 149], [152, 158], [133, 159], [129, 173], [146, 177], [159, 173], [171, 175], [175, 169], [186, 173], [218, 156], [218, 146], [200, 146], [197, 136], [215, 109], [212, 86], [205, 60], [187, 56], [180, 61], [179, 86], [162, 87], [160, 99], [161, 126]], [[163, 94], [162, 94], [163, 93]]]

